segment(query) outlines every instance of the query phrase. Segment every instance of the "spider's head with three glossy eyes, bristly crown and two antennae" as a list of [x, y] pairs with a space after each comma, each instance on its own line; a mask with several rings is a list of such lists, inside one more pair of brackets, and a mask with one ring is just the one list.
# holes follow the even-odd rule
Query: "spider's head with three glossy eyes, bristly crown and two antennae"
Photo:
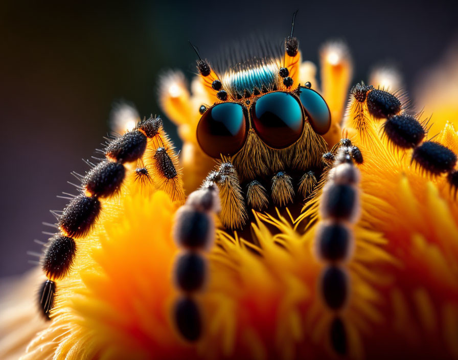
[[[320, 135], [329, 130], [331, 114], [310, 82], [300, 83], [296, 14], [281, 47], [262, 38], [246, 39], [226, 48], [215, 67], [194, 47], [201, 81], [213, 102], [199, 109], [197, 141], [212, 158], [230, 160], [242, 182], [276, 171], [310, 170], [318, 166], [318, 152], [325, 147]], [[299, 153], [308, 155], [301, 161]]]

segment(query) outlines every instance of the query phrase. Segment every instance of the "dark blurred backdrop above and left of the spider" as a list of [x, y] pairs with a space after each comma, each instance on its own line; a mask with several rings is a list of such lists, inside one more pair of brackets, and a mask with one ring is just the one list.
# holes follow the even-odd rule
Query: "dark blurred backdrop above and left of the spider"
[[[32, 266], [26, 252], [39, 251], [33, 239], [52, 231], [41, 222], [64, 207], [56, 195], [74, 192], [66, 181], [100, 147], [113, 101], [131, 101], [142, 116], [159, 113], [158, 73], [192, 76], [188, 39], [212, 59], [215, 48], [250, 33], [286, 36], [299, 8], [305, 59], [316, 62], [327, 39], [344, 39], [354, 81], [389, 62], [409, 90], [458, 35], [458, 9], [442, 0], [63, 3], [0, 3], [0, 276]], [[167, 130], [176, 138], [171, 124]]]

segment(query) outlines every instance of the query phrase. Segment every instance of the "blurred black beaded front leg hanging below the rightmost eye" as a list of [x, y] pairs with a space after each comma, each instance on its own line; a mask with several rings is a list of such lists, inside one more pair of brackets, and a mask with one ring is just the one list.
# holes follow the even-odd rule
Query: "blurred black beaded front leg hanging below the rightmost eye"
[[320, 222], [315, 235], [316, 253], [325, 263], [319, 291], [326, 307], [333, 311], [329, 327], [332, 349], [340, 355], [348, 352], [348, 335], [339, 310], [345, 307], [350, 278], [345, 262], [351, 256], [353, 225], [359, 217], [359, 171], [353, 165], [352, 148], [341, 146], [329, 171], [320, 199]]

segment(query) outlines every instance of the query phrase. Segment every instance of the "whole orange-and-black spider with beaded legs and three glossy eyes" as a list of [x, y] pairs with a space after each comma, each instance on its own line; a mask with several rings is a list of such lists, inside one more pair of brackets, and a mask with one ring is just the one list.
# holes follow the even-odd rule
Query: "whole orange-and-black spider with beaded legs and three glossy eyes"
[[[104, 201], [113, 198], [133, 174], [131, 181], [162, 189], [184, 204], [175, 218], [174, 238], [183, 251], [173, 275], [182, 294], [174, 302], [173, 321], [182, 338], [197, 341], [204, 331], [195, 294], [211, 276], [204, 258], [215, 228], [243, 234], [256, 253], [251, 222], [260, 213], [282, 213], [292, 219], [294, 229], [318, 222], [315, 251], [325, 264], [318, 288], [332, 313], [328, 339], [334, 352], [348, 353], [349, 335], [340, 311], [351, 292], [346, 263], [355, 246], [358, 168], [365, 158], [352, 137], [357, 133], [358, 139], [370, 143], [378, 136], [373, 121], [384, 119], [381, 129], [387, 144], [410, 150], [411, 161], [422, 171], [445, 174], [454, 191], [456, 155], [439, 142], [426, 140], [425, 124], [408, 113], [397, 95], [362, 83], [351, 89], [348, 131], [341, 136], [351, 78], [348, 54], [341, 44], [325, 48], [324, 88], [318, 89], [314, 68], [301, 61], [293, 26], [294, 17], [281, 51], [253, 43], [246, 51], [227, 54], [215, 67], [194, 48], [199, 72], [192, 84], [198, 94], [194, 99], [179, 74], [164, 76], [160, 100], [185, 140], [180, 159], [159, 118], [140, 121], [109, 141], [105, 159], [90, 164], [93, 168], [81, 176], [80, 194], [57, 214], [58, 231], [42, 258], [48, 280], [42, 285], [40, 306], [46, 317], [53, 314], [58, 282], [71, 271], [79, 243], [102, 216]], [[319, 208], [319, 216], [309, 211], [313, 206]]]

